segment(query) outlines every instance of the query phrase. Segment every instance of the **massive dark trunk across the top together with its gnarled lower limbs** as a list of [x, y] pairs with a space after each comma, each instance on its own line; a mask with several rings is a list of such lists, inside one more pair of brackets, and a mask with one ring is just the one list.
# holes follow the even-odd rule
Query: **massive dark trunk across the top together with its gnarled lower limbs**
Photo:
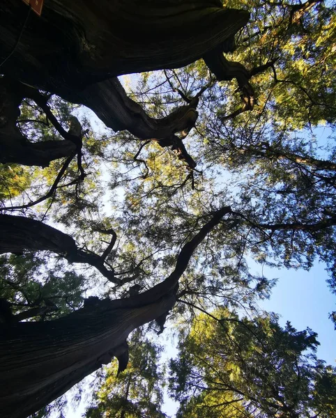
[[[139, 139], [174, 146], [190, 168], [195, 166], [176, 136], [194, 125], [195, 109], [186, 106], [155, 120], [127, 97], [114, 77], [180, 67], [221, 49], [247, 23], [247, 12], [224, 9], [219, 0], [162, 4], [101, 0], [94, 5], [89, 0], [61, 0], [46, 1], [41, 17], [28, 13], [29, 8], [17, 0], [0, 4], [0, 72], [85, 104], [114, 130], [129, 130]], [[22, 137], [13, 117], [33, 89], [24, 95], [22, 84], [15, 88], [1, 86], [0, 161], [45, 167], [71, 155], [75, 148], [71, 141], [31, 144]]]

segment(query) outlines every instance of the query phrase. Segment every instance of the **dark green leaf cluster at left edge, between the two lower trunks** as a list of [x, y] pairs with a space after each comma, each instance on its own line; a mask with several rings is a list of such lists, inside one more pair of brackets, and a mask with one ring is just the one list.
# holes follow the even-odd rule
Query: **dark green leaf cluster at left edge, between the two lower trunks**
[[[48, 266], [48, 270], [46, 270]], [[50, 320], [82, 306], [86, 279], [63, 261], [26, 252], [0, 257], [1, 297], [16, 320]]]

